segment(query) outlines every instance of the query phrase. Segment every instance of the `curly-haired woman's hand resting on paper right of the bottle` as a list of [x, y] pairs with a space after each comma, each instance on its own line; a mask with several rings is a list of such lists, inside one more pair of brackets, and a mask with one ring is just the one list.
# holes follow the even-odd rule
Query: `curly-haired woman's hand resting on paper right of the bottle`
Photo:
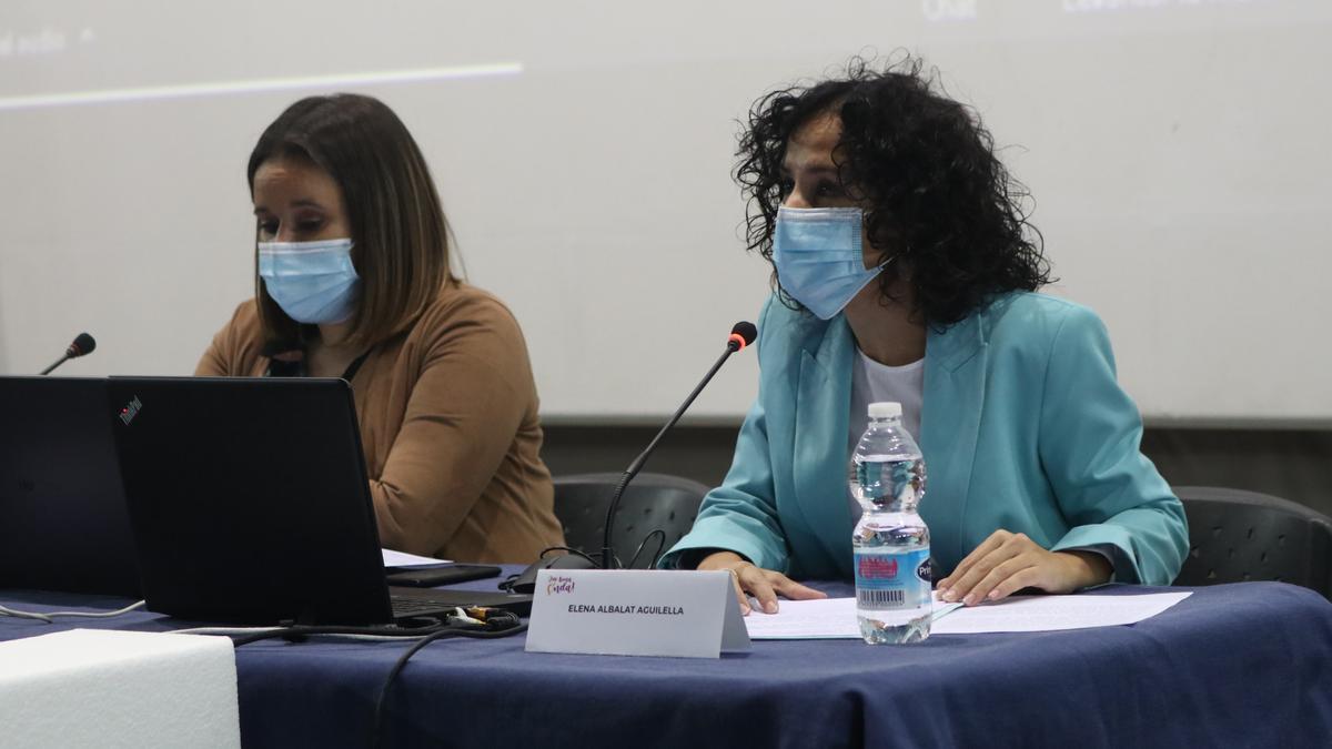
[[968, 606], [998, 601], [1023, 588], [1072, 593], [1110, 580], [1114, 569], [1095, 552], [1047, 552], [1023, 533], [995, 530], [939, 581], [938, 596]]

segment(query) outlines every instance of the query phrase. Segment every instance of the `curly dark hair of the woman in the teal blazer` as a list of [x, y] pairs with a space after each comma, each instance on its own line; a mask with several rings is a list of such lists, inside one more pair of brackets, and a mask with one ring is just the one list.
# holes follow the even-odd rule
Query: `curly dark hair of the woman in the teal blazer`
[[[896, 260], [879, 276], [884, 299], [906, 268], [912, 313], [946, 328], [994, 295], [1051, 283], [1027, 189], [1008, 175], [994, 139], [970, 108], [944, 96], [938, 71], [903, 56], [882, 71], [854, 57], [844, 76], [774, 91], [750, 109], [735, 180], [746, 197], [749, 248], [773, 261], [782, 163], [791, 135], [834, 113], [842, 136], [834, 164], [847, 195], [866, 205], [870, 244]], [[773, 272], [782, 301], [790, 297]]]

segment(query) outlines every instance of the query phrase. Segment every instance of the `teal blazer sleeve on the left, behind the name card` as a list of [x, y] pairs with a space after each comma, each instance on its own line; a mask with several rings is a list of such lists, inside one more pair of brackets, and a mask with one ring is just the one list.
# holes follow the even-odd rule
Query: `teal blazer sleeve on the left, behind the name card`
[[[769, 309], [759, 315], [761, 333], [767, 329]], [[763, 337], [759, 339], [762, 367]], [[658, 566], [678, 569], [682, 561], [701, 549], [730, 550], [765, 569], [786, 572], [790, 565], [786, 534], [777, 512], [773, 484], [771, 449], [767, 441], [767, 417], [763, 409], [765, 377], [759, 377], [759, 394], [745, 417], [735, 441], [735, 457], [722, 485], [703, 497], [694, 518], [694, 528], [667, 552]]]

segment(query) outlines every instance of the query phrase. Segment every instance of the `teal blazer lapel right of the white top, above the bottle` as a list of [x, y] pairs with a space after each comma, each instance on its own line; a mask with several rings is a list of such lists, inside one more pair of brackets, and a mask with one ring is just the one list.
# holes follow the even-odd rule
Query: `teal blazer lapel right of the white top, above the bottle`
[[[966, 517], [971, 492], [986, 396], [983, 320], [983, 315], [974, 315], [943, 333], [930, 331], [926, 339], [920, 452], [927, 481], [920, 516], [931, 528], [954, 529], [948, 537], [931, 537], [935, 556], [944, 558], [960, 560], [971, 553], [963, 548], [960, 518]], [[950, 521], [942, 521], [944, 517]]]

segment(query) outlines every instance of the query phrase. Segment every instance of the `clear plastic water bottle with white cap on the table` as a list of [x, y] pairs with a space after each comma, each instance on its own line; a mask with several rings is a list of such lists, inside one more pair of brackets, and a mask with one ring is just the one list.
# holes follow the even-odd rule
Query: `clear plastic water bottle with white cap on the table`
[[870, 425], [851, 453], [855, 524], [855, 616], [866, 642], [916, 642], [930, 636], [930, 529], [916, 514], [924, 460], [902, 428], [902, 405], [870, 404]]

